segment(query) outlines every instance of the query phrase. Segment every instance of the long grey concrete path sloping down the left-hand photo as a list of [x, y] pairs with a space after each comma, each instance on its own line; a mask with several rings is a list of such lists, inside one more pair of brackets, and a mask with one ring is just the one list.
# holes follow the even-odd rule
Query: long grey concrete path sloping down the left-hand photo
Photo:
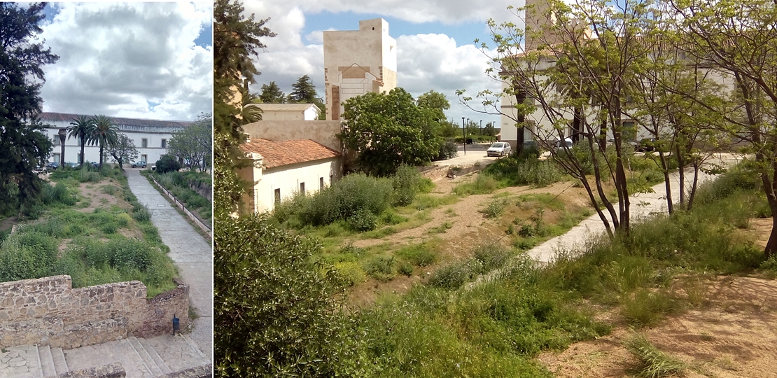
[[126, 168], [130, 190], [138, 201], [148, 206], [151, 220], [159, 229], [176, 262], [180, 277], [189, 284], [190, 306], [194, 307], [191, 338], [200, 351], [213, 361], [213, 248], [159, 191], [141, 176], [139, 169]]

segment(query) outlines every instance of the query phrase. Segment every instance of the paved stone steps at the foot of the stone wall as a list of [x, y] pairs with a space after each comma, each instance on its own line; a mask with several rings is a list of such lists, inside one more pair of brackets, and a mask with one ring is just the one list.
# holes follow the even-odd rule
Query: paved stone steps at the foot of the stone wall
[[197, 378], [212, 365], [186, 334], [124, 338], [62, 350], [20, 345], [0, 351], [2, 378]]

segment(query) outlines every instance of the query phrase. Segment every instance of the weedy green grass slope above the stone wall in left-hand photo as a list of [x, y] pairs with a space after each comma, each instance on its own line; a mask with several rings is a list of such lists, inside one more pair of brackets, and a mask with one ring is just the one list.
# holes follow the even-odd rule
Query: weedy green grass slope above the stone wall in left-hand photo
[[[42, 209], [37, 222], [24, 224], [0, 243], [0, 281], [70, 275], [78, 288], [138, 280], [146, 285], [148, 297], [175, 289], [172, 278], [177, 272], [167, 256], [169, 248], [152, 224], [148, 208], [138, 203], [119, 170], [107, 166], [103, 170], [57, 170], [52, 176], [57, 185], [50, 197], [60, 199]], [[78, 184], [106, 181], [120, 187], [103, 184], [100, 190], [124, 198], [130, 208], [111, 205], [77, 211], [84, 207], [83, 201], [75, 203]], [[136, 229], [141, 239], [124, 236]]]

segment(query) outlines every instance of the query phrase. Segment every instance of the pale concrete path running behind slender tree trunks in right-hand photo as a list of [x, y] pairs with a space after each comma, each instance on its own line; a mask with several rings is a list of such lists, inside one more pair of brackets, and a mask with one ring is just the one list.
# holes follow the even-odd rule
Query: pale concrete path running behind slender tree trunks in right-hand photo
[[[732, 154], [721, 154], [716, 159], [710, 159], [712, 160], [711, 163], [717, 163], [722, 164], [725, 166], [732, 166], [733, 164], [737, 163], [737, 161], [740, 160], [740, 158], [737, 158], [737, 156], [734, 156]], [[677, 203], [680, 201], [680, 180], [678, 173], [673, 173], [670, 175], [671, 177], [671, 191], [672, 191], [672, 201]], [[699, 184], [706, 180], [711, 180], [713, 177], [707, 175], [706, 173], [699, 173]], [[690, 185], [693, 183], [693, 173], [692, 171], [689, 171], [685, 174], [685, 184], [686, 187], [690, 188]], [[637, 219], [644, 218], [646, 216], [650, 216], [652, 214], [657, 213], [666, 213], [668, 211], [667, 208], [667, 199], [666, 199], [666, 187], [664, 183], [658, 184], [653, 187], [654, 193], [641, 193], [641, 194], [633, 194], [632, 196], [629, 196], [630, 198], [630, 210], [631, 210], [631, 221], [634, 222]], [[615, 210], [618, 209], [618, 204], [613, 204], [615, 206]], [[610, 221], [610, 226], [612, 225], [611, 218], [609, 216], [609, 213], [605, 210], [605, 215], [607, 215], [608, 220]], [[545, 243], [542, 243], [538, 245], [537, 247], [532, 248], [531, 250], [528, 250], [528, 255], [531, 257], [532, 260], [542, 262], [542, 263], [549, 263], [556, 259], [557, 254], [559, 252], [570, 252], [573, 250], [577, 250], [579, 247], [584, 246], [585, 242], [587, 240], [590, 240], [591, 238], [595, 238], [598, 236], [601, 236], [605, 233], [605, 224], [601, 222], [601, 219], [599, 218], [598, 214], [591, 215], [587, 219], [584, 219], [582, 222], [580, 222], [577, 226], [574, 226], [572, 229], [570, 229], [567, 233], [556, 236], [552, 238], [551, 240], [545, 241]]]

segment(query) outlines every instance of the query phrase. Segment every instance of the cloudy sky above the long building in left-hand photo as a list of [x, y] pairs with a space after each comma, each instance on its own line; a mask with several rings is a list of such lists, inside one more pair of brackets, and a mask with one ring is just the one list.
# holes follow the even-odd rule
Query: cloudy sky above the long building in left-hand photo
[[193, 121], [213, 98], [212, 2], [50, 3], [44, 111]]

